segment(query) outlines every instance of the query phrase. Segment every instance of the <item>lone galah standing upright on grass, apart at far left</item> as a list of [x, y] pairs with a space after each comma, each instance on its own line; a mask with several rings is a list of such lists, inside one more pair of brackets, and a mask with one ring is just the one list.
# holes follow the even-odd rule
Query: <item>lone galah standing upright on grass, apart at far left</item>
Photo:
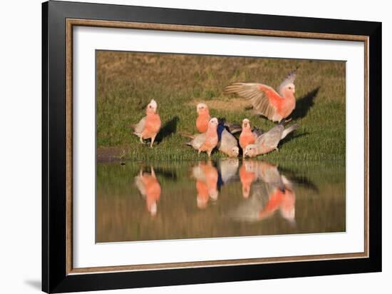
[[158, 135], [162, 124], [160, 116], [157, 113], [157, 108], [157, 102], [152, 99], [145, 110], [146, 116], [143, 117], [137, 124], [133, 125], [133, 133], [140, 138], [141, 143], [144, 143], [143, 139], [151, 138], [151, 148], [153, 148], [155, 137]]

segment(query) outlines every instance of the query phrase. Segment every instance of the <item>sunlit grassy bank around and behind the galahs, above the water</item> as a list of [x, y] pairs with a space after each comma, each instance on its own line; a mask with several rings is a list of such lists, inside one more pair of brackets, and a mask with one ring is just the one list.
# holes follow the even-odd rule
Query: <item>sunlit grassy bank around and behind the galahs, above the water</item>
[[[123, 160], [180, 161], [205, 159], [185, 146], [180, 133], [196, 133], [195, 104], [204, 101], [212, 116], [252, 125], [268, 131], [274, 123], [246, 110], [239, 99], [223, 94], [234, 81], [266, 83], [277, 88], [289, 71], [296, 76], [297, 107], [292, 113], [299, 129], [281, 141], [279, 152], [259, 156], [267, 161], [296, 164], [345, 161], [345, 63], [248, 57], [193, 56], [97, 52], [97, 145], [98, 153], [112, 148]], [[145, 116], [151, 98], [158, 101], [163, 130], [151, 149], [127, 126]], [[212, 158], [225, 157], [215, 152]]]

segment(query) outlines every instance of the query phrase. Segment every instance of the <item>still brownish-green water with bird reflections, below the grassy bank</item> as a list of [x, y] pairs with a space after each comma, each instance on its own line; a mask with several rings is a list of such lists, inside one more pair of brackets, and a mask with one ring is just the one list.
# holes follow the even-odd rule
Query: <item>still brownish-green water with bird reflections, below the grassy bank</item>
[[96, 241], [346, 230], [342, 164], [98, 163]]

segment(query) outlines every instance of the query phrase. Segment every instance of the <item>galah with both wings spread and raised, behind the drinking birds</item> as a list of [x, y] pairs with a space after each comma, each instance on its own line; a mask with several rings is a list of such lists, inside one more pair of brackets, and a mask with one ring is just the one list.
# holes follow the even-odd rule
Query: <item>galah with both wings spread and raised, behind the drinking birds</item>
[[225, 88], [225, 93], [236, 93], [246, 98], [257, 113], [271, 121], [282, 121], [295, 108], [296, 69], [292, 71], [279, 85], [278, 91], [263, 83], [232, 83]]

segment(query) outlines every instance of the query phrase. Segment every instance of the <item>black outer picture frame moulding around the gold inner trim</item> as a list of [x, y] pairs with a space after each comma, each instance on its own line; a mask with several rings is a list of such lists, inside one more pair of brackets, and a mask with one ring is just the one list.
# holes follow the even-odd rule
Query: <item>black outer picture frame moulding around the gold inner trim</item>
[[[368, 258], [68, 275], [66, 271], [66, 19], [368, 36]], [[42, 4], [42, 290], [186, 285], [381, 271], [381, 23], [48, 1]]]

